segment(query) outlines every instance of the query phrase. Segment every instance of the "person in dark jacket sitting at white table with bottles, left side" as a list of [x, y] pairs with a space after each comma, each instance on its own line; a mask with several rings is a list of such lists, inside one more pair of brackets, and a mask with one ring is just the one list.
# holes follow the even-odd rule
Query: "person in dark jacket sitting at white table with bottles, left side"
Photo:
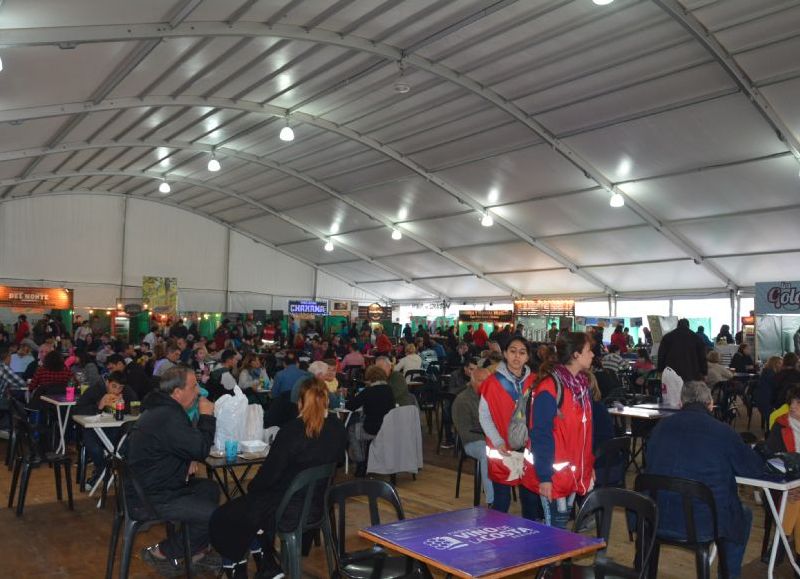
[[[139, 400], [136, 392], [128, 386], [125, 374], [122, 372], [111, 372], [105, 384], [89, 387], [83, 395], [78, 398], [72, 413], [75, 416], [99, 414], [105, 408], [115, 408], [118, 401], [122, 400], [126, 408], [130, 408], [131, 402]], [[119, 428], [103, 429], [112, 444], [116, 444], [119, 439]], [[105, 449], [94, 428], [85, 428], [83, 431], [83, 444], [86, 447], [86, 454], [94, 464], [94, 474], [86, 481], [86, 490], [91, 490], [97, 479], [105, 468]]]

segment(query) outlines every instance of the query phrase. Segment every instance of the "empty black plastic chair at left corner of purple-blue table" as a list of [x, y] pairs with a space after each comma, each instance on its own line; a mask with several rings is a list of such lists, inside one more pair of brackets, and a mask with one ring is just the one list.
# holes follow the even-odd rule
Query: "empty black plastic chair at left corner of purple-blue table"
[[328, 489], [325, 499], [325, 512], [328, 517], [323, 526], [328, 575], [332, 579], [399, 579], [412, 576], [415, 567], [413, 559], [391, 556], [378, 545], [360, 551], [346, 551], [347, 501], [364, 497], [369, 502], [371, 525], [381, 524], [379, 500], [384, 500], [394, 507], [397, 520], [405, 519], [397, 491], [385, 481], [354, 480], [332, 486]]

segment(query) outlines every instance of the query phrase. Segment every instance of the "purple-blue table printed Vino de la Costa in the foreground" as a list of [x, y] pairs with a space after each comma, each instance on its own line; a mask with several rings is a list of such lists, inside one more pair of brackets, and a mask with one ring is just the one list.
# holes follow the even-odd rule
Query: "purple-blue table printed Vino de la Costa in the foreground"
[[368, 527], [359, 536], [455, 577], [494, 579], [579, 557], [602, 539], [482, 507]]

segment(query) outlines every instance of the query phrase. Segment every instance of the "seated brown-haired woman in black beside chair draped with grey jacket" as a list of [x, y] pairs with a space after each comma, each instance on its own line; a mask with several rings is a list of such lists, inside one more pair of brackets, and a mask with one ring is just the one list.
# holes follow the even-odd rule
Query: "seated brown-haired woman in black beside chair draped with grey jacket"
[[[373, 440], [383, 425], [383, 417], [395, 406], [394, 394], [388, 384], [389, 376], [383, 368], [370, 366], [364, 373], [367, 387], [347, 403], [347, 409], [355, 412], [363, 409], [358, 420], [350, 421], [350, 457], [356, 463], [356, 476], [367, 474], [367, 442]], [[356, 417], [354, 417], [356, 418]]]

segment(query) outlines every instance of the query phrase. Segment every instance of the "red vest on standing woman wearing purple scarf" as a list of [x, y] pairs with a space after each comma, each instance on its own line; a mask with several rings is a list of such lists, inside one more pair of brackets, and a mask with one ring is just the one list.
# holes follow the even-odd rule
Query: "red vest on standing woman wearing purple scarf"
[[[556, 399], [556, 385], [552, 378], [545, 378], [536, 386], [533, 395], [534, 405], [536, 396], [542, 392], [549, 392]], [[584, 408], [575, 404], [569, 388], [564, 387], [562, 392], [561, 408], [553, 420], [555, 455], [553, 478], [550, 482], [553, 484], [554, 499], [567, 497], [574, 492], [585, 495], [589, 491], [594, 470], [592, 403], [589, 398], [591, 392], [587, 394]], [[533, 412], [530, 416], [530, 426], [533, 427]], [[522, 469], [522, 484], [525, 488], [538, 493], [539, 477], [533, 466], [534, 456], [531, 448], [529, 441]]]

